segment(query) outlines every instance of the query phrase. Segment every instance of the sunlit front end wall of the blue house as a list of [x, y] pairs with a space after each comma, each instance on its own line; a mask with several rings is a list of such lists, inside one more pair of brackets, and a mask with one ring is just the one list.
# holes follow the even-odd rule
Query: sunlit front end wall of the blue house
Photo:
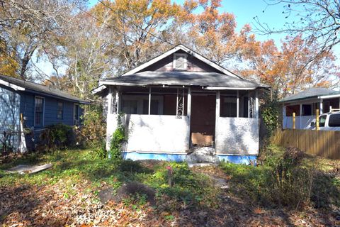
[[[0, 141], [3, 141], [2, 132], [20, 131], [20, 95], [13, 89], [0, 85]], [[11, 135], [11, 145], [18, 148], [19, 135]]]

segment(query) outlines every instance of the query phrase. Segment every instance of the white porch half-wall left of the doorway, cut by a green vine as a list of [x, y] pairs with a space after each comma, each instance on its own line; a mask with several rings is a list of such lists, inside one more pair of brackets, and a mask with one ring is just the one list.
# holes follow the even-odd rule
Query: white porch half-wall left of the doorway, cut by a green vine
[[[124, 151], [153, 153], [185, 153], [189, 150], [189, 121], [187, 116], [125, 114], [129, 128], [128, 144]], [[108, 115], [107, 141], [117, 126], [115, 114]], [[107, 143], [109, 148], [109, 142]]]

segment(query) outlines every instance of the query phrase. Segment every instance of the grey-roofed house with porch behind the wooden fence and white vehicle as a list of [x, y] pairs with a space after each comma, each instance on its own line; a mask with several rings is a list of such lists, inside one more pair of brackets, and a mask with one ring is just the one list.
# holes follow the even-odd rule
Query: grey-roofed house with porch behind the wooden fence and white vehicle
[[293, 113], [295, 113], [295, 128], [308, 129], [310, 123], [319, 114], [328, 113], [331, 109], [339, 109], [340, 92], [331, 89], [313, 87], [297, 94], [292, 94], [280, 100], [283, 104], [283, 128], [293, 128]]

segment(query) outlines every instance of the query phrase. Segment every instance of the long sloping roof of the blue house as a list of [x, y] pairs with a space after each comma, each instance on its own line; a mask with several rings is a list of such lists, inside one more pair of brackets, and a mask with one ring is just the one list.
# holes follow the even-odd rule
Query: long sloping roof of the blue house
[[0, 74], [0, 84], [6, 87], [11, 87], [11, 89], [14, 89], [16, 91], [33, 92], [33, 93], [38, 93], [38, 94], [44, 94], [47, 96], [57, 97], [59, 99], [64, 99], [67, 101], [74, 101], [80, 104], [89, 104], [88, 101], [79, 99], [76, 96], [62, 92], [59, 89], [47, 87], [42, 84], [28, 82], [22, 79], [8, 77], [2, 74]]

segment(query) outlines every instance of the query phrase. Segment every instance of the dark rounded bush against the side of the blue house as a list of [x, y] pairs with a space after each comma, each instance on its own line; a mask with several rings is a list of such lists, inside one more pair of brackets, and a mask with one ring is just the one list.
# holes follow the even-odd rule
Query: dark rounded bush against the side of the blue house
[[72, 146], [75, 144], [73, 128], [62, 123], [47, 126], [40, 133], [39, 143], [47, 150]]

